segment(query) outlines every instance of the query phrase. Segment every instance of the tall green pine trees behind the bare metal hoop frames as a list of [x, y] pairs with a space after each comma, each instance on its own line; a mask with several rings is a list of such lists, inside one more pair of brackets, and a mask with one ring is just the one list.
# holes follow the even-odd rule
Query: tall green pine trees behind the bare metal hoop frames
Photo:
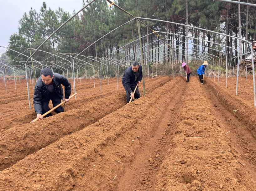
[[[89, 2], [90, 0], [83, 0], [82, 6], [85, 6]], [[249, 3], [251, 2], [252, 0], [249, 0]], [[182, 24], [185, 24], [186, 22], [186, 0], [118, 0], [116, 4], [127, 12], [133, 14], [135, 17], [155, 18]], [[227, 7], [229, 7], [229, 14], [227, 14]], [[242, 6], [241, 8], [242, 13], [245, 13], [246, 7]], [[19, 47], [13, 48], [18, 52], [23, 52], [21, 47], [36, 49], [57, 28], [59, 28], [61, 24], [68, 20], [72, 14], [64, 11], [60, 7], [54, 11], [47, 7], [45, 2], [42, 3], [42, 7], [37, 11], [32, 8], [28, 11], [28, 13], [24, 13], [18, 23], [18, 34], [11, 35], [9, 40], [9, 46]], [[251, 38], [254, 38], [256, 31], [254, 11], [254, 8], [249, 8], [248, 34]], [[226, 32], [224, 31], [225, 27], [223, 26], [226, 25], [226, 18], [229, 17], [229, 34], [231, 33], [230, 35], [233, 36], [238, 34], [238, 6], [231, 6], [227, 3], [216, 1], [189, 0], [188, 13], [189, 25], [220, 33]], [[246, 15], [241, 14], [241, 17], [242, 26], [244, 26], [246, 24]], [[109, 7], [107, 1], [96, 0], [90, 6], [86, 7], [81, 14], [71, 19], [65, 24], [65, 26], [57, 31], [50, 38], [50, 40], [48, 40], [47, 44], [41, 48], [41, 50], [50, 51], [53, 53], [58, 52], [77, 54], [86, 49], [83, 52], [83, 55], [95, 57], [106, 57], [108, 54], [110, 54], [110, 52], [115, 52], [111, 56], [111, 59], [125, 58], [127, 60], [127, 54], [131, 53], [129, 55], [129, 61], [133, 61], [135, 60], [135, 54], [132, 53], [133, 49], [137, 50], [137, 56], [138, 52], [140, 51], [138, 41], [134, 44], [129, 44], [125, 48], [120, 50], [118, 49], [125, 44], [132, 42], [134, 39], [138, 39], [136, 21], [132, 21], [129, 24], [113, 31], [111, 34], [108, 34], [110, 31], [131, 19], [131, 16], [115, 6]], [[181, 27], [178, 24], [149, 20], [144, 20], [143, 22], [155, 31], [185, 35], [185, 27]], [[147, 37], [142, 38], [143, 46], [146, 46], [147, 42], [150, 43], [151, 38], [153, 41], [157, 40], [157, 37], [154, 34], [150, 34], [152, 33], [151, 30], [147, 30], [144, 25], [141, 25], [140, 27], [142, 37], [149, 34]], [[192, 37], [205, 40], [209, 39], [212, 42], [225, 44], [225, 39], [223, 39], [220, 35], [207, 32], [203, 33], [203, 31], [191, 27], [189, 27], [189, 31]], [[101, 38], [105, 34], [108, 35]], [[242, 34], [245, 34], [244, 27]], [[172, 35], [164, 33], [160, 33], [160, 35], [162, 38], [167, 39], [165, 40], [166, 43], [171, 43], [171, 41], [168, 39], [171, 39]], [[175, 45], [178, 48], [181, 48], [180, 46], [185, 46], [185, 43], [181, 42], [185, 41], [185, 38], [180, 36], [175, 36], [174, 38], [177, 40]], [[202, 46], [202, 42], [198, 42], [196, 39], [192, 40], [192, 42], [196, 45], [193, 45], [194, 50], [193, 54], [191, 55], [194, 55], [196, 59], [202, 57], [202, 50], [199, 50], [198, 48], [199, 46]], [[235, 47], [234, 40], [232, 43], [233, 47]], [[238, 43], [236, 46], [237, 45]], [[204, 48], [205, 52], [212, 54], [215, 56], [215, 58], [220, 57], [220, 51], [224, 51], [222, 46], [213, 43], [209, 44], [205, 42], [204, 46], [206, 47]], [[209, 47], [209, 49], [207, 47]], [[146, 46], [143, 51], [146, 52], [148, 48], [149, 47]], [[24, 54], [30, 55], [28, 51], [26, 51]], [[148, 54], [149, 53], [145, 53], [144, 57], [149, 57]], [[170, 49], [166, 50], [166, 54], [170, 55]], [[16, 56], [18, 56], [17, 53], [12, 51], [8, 51], [7, 55], [10, 57], [10, 59], [14, 59]], [[26, 60], [26, 57], [20, 57], [21, 60]], [[40, 60], [44, 60], [47, 57], [49, 57], [49, 55], [43, 53], [38, 53], [35, 55], [35, 58]], [[230, 55], [230, 57], [232, 57], [232, 55]], [[139, 59], [140, 58], [137, 57], [137, 60]], [[57, 62], [58, 57], [52, 57], [51, 61]], [[150, 61], [151, 59], [147, 58], [145, 64], [149, 64], [151, 66], [152, 63]], [[167, 62], [169, 61], [170, 59]], [[191, 66], [195, 70], [200, 63], [196, 64]], [[168, 65], [168, 63], [166, 65]]]

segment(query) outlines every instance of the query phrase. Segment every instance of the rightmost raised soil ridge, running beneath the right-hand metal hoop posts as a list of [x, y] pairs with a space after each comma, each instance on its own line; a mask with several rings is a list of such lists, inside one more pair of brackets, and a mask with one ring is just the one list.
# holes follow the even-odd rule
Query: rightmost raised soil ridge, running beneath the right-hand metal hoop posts
[[247, 125], [248, 130], [250, 130], [253, 136], [256, 138], [255, 129], [255, 113], [256, 107], [248, 104], [247, 101], [243, 101], [241, 98], [238, 99], [237, 96], [231, 95], [226, 89], [223, 89], [220, 85], [206, 78], [207, 86], [213, 90], [214, 94], [218, 97], [225, 108], [233, 113], [239, 121], [244, 122]]

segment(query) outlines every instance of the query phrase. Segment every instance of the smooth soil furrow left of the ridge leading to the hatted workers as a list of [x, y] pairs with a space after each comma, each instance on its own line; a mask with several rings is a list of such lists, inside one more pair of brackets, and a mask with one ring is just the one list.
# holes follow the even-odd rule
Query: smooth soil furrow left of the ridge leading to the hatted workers
[[173, 124], [176, 122], [177, 114], [182, 106], [185, 87], [183, 85], [180, 91], [177, 91], [177, 96], [168, 104], [155, 132], [149, 137], [141, 151], [136, 154], [131, 165], [126, 166], [125, 174], [120, 178], [115, 190], [154, 190], [154, 182], [159, 177], [157, 168], [163, 162], [162, 155], [170, 152], [169, 132], [173, 130]]

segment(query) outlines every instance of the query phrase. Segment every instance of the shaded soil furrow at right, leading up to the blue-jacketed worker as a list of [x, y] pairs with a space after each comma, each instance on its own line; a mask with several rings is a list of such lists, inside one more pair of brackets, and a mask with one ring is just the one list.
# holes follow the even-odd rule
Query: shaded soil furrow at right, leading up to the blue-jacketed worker
[[252, 132], [248, 130], [243, 122], [240, 122], [237, 117], [228, 111], [224, 104], [218, 100], [214, 91], [207, 86], [204, 86], [206, 97], [212, 104], [212, 109], [216, 112], [219, 123], [223, 131], [232, 139], [231, 143], [235, 149], [233, 153], [237, 158], [241, 158], [248, 166], [248, 173], [252, 175], [256, 181], [256, 140]]

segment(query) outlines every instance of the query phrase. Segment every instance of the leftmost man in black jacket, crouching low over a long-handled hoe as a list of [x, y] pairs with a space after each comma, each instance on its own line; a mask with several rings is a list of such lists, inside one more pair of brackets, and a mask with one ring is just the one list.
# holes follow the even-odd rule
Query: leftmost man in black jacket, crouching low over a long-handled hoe
[[[71, 84], [63, 75], [53, 73], [49, 68], [44, 68], [40, 72], [41, 77], [37, 80], [34, 89], [34, 109], [37, 117], [43, 119], [42, 114], [50, 110], [49, 102], [55, 107], [61, 103], [61, 100], [69, 101], [71, 94]], [[63, 89], [61, 84], [65, 87], [65, 98], [63, 99]], [[64, 112], [63, 107], [58, 107], [54, 110], [56, 113]], [[52, 116], [51, 113], [45, 117]]]

